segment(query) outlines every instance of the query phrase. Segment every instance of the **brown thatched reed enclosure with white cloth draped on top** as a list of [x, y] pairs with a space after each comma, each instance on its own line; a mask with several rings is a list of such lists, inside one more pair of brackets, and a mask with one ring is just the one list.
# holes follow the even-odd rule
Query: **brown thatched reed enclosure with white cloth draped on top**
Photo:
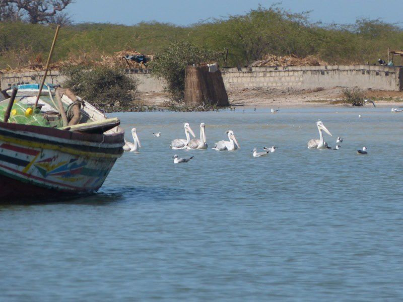
[[207, 65], [187, 66], [185, 70], [185, 104], [188, 107], [229, 106], [221, 71], [209, 72]]

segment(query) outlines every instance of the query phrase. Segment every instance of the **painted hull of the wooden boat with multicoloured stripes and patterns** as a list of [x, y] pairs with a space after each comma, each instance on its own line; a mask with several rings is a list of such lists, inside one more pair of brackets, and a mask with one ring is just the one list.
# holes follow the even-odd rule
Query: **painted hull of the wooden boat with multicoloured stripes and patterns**
[[123, 135], [0, 122], [0, 200], [96, 192], [123, 153]]

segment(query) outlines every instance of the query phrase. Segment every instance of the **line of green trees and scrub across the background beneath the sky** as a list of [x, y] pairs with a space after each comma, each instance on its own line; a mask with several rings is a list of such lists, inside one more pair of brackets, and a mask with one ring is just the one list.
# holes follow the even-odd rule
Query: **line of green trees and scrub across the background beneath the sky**
[[[51, 24], [63, 23], [57, 21], [60, 18], [70, 20], [63, 15], [70, 3], [71, 0], [0, 0], [0, 68], [46, 57], [54, 33]], [[220, 57], [220, 63], [228, 66], [243, 66], [265, 54], [314, 55], [329, 64], [371, 64], [378, 58], [386, 60], [388, 46], [403, 48], [403, 29], [396, 24], [367, 19], [348, 25], [314, 23], [309, 13], [291, 13], [277, 6], [259, 6], [244, 15], [190, 26], [159, 22], [133, 26], [63, 24], [55, 59], [101, 59], [102, 55], [125, 48], [158, 54], [172, 42], [189, 41], [227, 54]], [[402, 64], [401, 58], [395, 58], [395, 64]]]

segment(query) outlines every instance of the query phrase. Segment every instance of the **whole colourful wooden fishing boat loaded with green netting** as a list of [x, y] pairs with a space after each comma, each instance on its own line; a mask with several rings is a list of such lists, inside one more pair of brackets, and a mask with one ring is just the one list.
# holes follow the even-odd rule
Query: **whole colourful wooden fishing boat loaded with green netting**
[[50, 86], [32, 112], [38, 92], [37, 84], [21, 85], [12, 105], [0, 102], [0, 200], [96, 192], [123, 153], [120, 121]]

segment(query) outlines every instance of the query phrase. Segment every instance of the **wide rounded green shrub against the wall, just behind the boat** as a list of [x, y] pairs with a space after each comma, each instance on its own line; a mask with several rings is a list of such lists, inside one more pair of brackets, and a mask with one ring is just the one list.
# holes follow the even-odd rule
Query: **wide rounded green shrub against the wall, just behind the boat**
[[63, 87], [99, 107], [130, 106], [138, 82], [121, 69], [100, 66], [69, 66], [61, 70]]

